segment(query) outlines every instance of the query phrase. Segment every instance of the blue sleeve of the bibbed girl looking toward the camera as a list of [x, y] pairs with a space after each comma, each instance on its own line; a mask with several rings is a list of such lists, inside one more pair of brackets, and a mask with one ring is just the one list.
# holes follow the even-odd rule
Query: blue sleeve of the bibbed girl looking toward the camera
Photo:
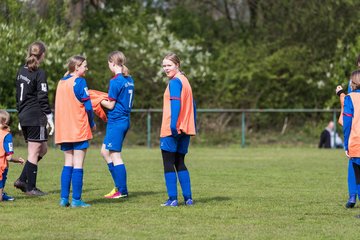
[[169, 91], [170, 91], [170, 105], [171, 105], [171, 123], [170, 129], [173, 137], [178, 135], [176, 129], [176, 123], [179, 118], [180, 108], [181, 108], [181, 90], [182, 84], [179, 79], [173, 79], [169, 82]]

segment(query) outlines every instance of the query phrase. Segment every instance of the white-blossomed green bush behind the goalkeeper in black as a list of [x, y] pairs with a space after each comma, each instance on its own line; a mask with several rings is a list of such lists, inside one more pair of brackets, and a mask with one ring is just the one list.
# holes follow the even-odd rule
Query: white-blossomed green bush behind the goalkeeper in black
[[10, 23], [0, 22], [0, 45], [6, 46], [0, 48], [4, 56], [0, 66], [0, 103], [6, 108], [16, 107], [16, 72], [25, 63], [27, 47], [32, 42], [41, 40], [47, 45], [41, 67], [47, 73], [50, 101], [53, 102], [57, 81], [66, 72], [66, 60], [75, 53], [82, 53], [83, 42], [88, 38], [85, 32], [69, 31], [63, 25], [47, 22], [28, 11], [31, 20], [24, 17]]

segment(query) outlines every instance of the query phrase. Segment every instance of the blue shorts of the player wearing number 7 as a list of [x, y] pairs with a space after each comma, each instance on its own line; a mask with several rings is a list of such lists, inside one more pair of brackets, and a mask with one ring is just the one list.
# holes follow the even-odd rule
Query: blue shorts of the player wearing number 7
[[104, 139], [105, 149], [114, 152], [121, 152], [126, 133], [130, 127], [128, 120], [108, 123]]

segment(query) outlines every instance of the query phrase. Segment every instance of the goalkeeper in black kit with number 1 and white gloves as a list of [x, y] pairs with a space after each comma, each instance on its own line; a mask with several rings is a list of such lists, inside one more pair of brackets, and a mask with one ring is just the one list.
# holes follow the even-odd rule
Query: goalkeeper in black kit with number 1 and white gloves
[[28, 156], [20, 177], [14, 186], [29, 196], [45, 195], [36, 187], [38, 162], [47, 152], [48, 132], [53, 134], [54, 122], [48, 99], [48, 84], [44, 70], [39, 68], [45, 58], [46, 47], [43, 42], [30, 44], [26, 63], [20, 67], [16, 76], [16, 107], [19, 116], [19, 129], [27, 143]]

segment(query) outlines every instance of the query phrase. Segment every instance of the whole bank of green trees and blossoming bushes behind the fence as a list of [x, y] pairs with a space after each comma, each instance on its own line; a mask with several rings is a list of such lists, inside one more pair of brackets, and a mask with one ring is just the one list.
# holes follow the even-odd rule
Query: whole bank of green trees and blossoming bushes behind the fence
[[[51, 103], [70, 56], [85, 55], [89, 87], [107, 91], [107, 56], [121, 50], [135, 80], [135, 108], [161, 107], [168, 52], [180, 56], [199, 108], [334, 108], [334, 89], [346, 87], [360, 52], [360, 20], [349, 14], [360, 4], [353, 0], [109, 0], [104, 8], [83, 1], [74, 19], [79, 1], [39, 1], [45, 8], [35, 2], [0, 3], [6, 108], [15, 108], [16, 71], [35, 40], [48, 45], [42, 67]], [[285, 116], [254, 120], [274, 124]]]

